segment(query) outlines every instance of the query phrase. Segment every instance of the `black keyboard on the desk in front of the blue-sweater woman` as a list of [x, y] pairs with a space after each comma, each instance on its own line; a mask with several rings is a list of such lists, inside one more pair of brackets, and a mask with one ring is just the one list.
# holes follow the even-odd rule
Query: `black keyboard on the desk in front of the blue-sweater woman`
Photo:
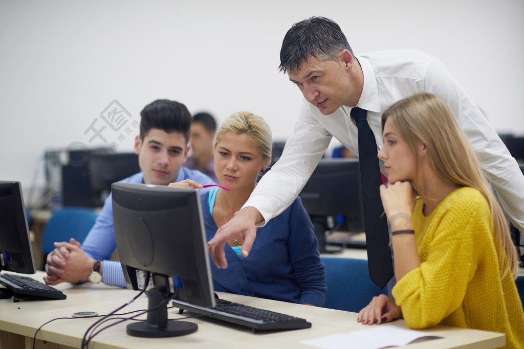
[[174, 300], [173, 306], [180, 308], [180, 313], [183, 310], [191, 311], [213, 319], [249, 327], [255, 333], [266, 330], [296, 330], [311, 327], [311, 322], [307, 322], [305, 319], [274, 311], [250, 307], [220, 298], [215, 299], [215, 303], [214, 308], [206, 308]]

